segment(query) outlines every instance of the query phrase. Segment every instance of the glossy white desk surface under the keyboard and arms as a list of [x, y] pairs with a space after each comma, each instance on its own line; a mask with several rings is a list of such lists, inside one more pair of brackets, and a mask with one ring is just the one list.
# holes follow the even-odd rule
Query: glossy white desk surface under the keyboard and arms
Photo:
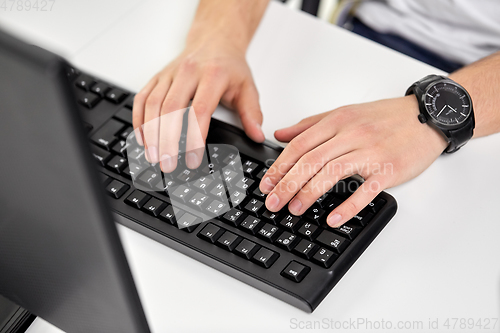
[[[49, 13], [0, 11], [0, 22], [62, 51], [80, 68], [137, 91], [181, 51], [196, 5], [65, 0]], [[277, 2], [268, 8], [248, 60], [268, 138], [317, 112], [401, 96], [416, 79], [438, 72]], [[238, 124], [222, 108], [216, 117]], [[326, 325], [330, 319], [364, 318], [374, 325], [391, 321], [393, 328], [399, 321], [422, 321], [420, 331], [436, 332], [445, 330], [447, 318], [499, 317], [499, 152], [500, 135], [474, 140], [389, 190], [399, 203], [396, 217], [313, 314], [120, 226], [152, 330], [288, 332], [297, 331], [299, 321]], [[439, 330], [429, 329], [429, 319], [439, 320]], [[29, 329], [57, 331], [41, 319]]]

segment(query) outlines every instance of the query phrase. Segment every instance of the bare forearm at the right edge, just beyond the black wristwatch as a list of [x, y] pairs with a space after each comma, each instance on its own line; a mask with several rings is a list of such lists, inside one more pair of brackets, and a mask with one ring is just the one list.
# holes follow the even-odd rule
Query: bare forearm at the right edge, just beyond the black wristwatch
[[500, 52], [450, 74], [474, 103], [474, 137], [500, 132]]

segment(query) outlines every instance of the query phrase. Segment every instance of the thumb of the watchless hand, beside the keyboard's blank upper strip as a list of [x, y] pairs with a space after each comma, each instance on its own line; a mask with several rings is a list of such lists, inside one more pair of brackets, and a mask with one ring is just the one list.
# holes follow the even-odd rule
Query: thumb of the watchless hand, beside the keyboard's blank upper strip
[[259, 93], [253, 82], [242, 84], [235, 106], [245, 133], [255, 142], [263, 142], [265, 140], [261, 128], [263, 116], [260, 110]]

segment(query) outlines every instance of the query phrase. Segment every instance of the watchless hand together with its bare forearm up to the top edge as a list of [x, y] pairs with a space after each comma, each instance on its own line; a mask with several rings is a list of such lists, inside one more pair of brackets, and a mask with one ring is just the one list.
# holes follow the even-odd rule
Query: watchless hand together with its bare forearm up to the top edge
[[241, 2], [236, 6], [200, 3], [185, 50], [135, 96], [133, 125], [138, 143], [146, 146], [149, 162], [160, 162], [164, 172], [176, 168], [182, 117], [155, 119], [186, 108], [191, 99], [199, 130], [189, 125], [189, 168], [196, 168], [201, 162], [203, 151], [196, 149], [200, 147], [199, 133], [205, 140], [210, 117], [219, 102], [239, 113], [251, 139], [264, 141], [258, 93], [245, 52], [259, 23], [249, 19], [255, 15], [246, 14], [252, 11], [260, 17], [265, 5], [266, 1]]

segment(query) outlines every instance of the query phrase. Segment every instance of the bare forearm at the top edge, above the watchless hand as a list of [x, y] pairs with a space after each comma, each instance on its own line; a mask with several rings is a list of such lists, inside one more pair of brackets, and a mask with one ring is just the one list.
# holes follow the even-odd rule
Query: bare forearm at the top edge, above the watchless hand
[[269, 0], [201, 0], [187, 43], [224, 39], [246, 51]]

